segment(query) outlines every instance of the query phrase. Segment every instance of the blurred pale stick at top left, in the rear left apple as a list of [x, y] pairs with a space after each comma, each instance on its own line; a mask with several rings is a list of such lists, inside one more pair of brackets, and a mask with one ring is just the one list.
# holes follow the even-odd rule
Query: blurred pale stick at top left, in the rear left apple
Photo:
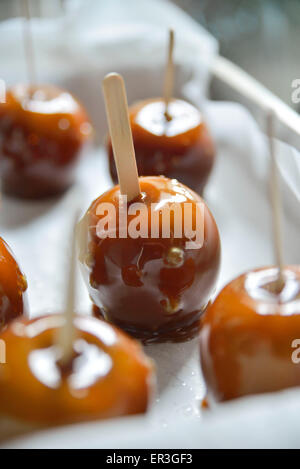
[[36, 69], [31, 29], [30, 0], [20, 0], [20, 2], [22, 7], [22, 13], [24, 16], [23, 41], [27, 65], [28, 83], [30, 85], [33, 85], [36, 84]]

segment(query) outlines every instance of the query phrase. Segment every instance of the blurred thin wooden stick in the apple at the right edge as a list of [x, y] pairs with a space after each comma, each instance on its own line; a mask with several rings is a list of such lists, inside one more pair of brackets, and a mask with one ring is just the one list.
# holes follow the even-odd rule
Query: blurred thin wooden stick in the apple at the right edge
[[270, 149], [270, 183], [272, 203], [272, 225], [275, 261], [278, 267], [277, 289], [281, 291], [284, 285], [283, 277], [283, 245], [282, 245], [282, 220], [281, 220], [281, 198], [278, 178], [278, 167], [276, 162], [276, 149], [274, 141], [274, 112], [267, 114], [267, 134]]

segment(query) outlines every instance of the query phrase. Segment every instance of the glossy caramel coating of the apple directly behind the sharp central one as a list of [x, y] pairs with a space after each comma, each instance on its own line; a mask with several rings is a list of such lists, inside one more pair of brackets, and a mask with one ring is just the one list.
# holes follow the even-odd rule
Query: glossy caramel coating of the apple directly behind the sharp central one
[[[130, 108], [130, 123], [138, 172], [141, 176], [164, 175], [203, 193], [211, 173], [215, 149], [198, 109], [174, 99], [165, 115], [162, 99], [138, 102]], [[112, 146], [108, 142], [110, 173], [117, 183]]]

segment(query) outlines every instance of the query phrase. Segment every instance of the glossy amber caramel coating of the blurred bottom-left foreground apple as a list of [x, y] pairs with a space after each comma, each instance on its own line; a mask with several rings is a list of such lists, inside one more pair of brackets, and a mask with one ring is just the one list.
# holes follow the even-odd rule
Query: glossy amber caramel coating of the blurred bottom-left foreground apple
[[58, 425], [147, 410], [153, 366], [140, 345], [91, 316], [76, 316], [74, 359], [59, 365], [61, 315], [13, 321], [0, 336], [0, 414], [21, 422]]

